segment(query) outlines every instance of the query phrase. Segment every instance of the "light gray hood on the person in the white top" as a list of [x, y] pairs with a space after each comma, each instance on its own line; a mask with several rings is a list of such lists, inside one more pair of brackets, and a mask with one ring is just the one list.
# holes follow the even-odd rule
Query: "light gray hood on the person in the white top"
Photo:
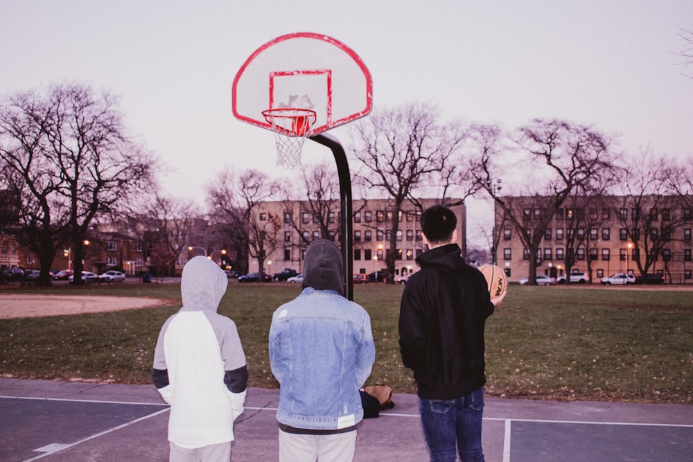
[[196, 256], [183, 267], [180, 280], [182, 310], [216, 312], [228, 285], [229, 278], [216, 263]]

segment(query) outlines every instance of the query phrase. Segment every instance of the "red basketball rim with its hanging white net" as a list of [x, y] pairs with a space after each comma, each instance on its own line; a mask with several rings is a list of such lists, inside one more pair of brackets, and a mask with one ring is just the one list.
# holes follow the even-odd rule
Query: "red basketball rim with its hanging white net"
[[311, 109], [281, 107], [262, 112], [265, 121], [272, 125], [277, 142], [277, 165], [294, 168], [301, 163], [301, 150], [306, 138], [312, 133], [317, 113]]

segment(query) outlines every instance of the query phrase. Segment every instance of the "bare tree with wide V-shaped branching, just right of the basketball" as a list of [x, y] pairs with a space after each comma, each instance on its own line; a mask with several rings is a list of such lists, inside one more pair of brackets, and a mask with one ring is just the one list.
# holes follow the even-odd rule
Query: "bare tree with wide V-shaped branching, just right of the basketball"
[[473, 171], [477, 184], [494, 198], [505, 220], [514, 226], [529, 254], [529, 283], [536, 284], [539, 246], [556, 211], [573, 193], [602, 190], [617, 168], [611, 141], [586, 125], [535, 119], [519, 127], [512, 139], [519, 148], [513, 157], [519, 154], [519, 159], [509, 165], [523, 172], [522, 179], [516, 180], [523, 194], [501, 196], [493, 192], [493, 179], [513, 174], [503, 168], [496, 150], [477, 152]]

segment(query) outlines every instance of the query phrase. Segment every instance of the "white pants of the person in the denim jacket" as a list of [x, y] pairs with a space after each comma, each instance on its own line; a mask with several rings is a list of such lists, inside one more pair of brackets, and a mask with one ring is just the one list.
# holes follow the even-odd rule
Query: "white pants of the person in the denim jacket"
[[352, 462], [356, 430], [334, 435], [298, 435], [279, 430], [279, 462]]

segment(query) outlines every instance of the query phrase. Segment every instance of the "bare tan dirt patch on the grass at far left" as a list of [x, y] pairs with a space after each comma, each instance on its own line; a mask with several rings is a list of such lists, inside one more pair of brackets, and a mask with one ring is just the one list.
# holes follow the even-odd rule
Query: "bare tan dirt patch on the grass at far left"
[[177, 301], [130, 296], [0, 294], [0, 319], [157, 308], [172, 303]]

